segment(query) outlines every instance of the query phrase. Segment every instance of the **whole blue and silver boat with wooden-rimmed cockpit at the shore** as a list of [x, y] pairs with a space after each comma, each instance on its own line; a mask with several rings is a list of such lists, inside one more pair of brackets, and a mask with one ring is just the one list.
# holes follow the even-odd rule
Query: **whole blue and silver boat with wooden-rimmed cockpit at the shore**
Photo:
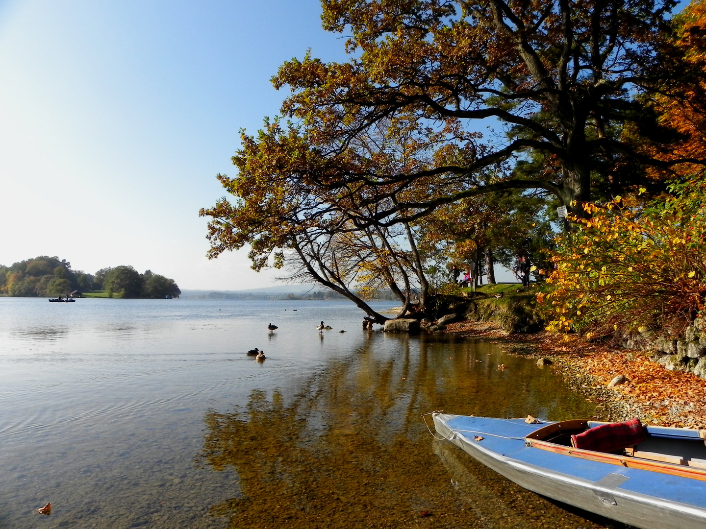
[[706, 527], [705, 430], [530, 419], [433, 413], [443, 438], [537, 494], [641, 529]]

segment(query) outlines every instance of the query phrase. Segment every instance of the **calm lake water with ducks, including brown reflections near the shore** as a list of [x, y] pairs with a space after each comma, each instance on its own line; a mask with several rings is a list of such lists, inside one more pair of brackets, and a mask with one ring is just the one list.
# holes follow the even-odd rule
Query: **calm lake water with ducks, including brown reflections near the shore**
[[551, 368], [361, 320], [348, 302], [0, 298], [0, 528], [599, 526], [421, 417], [594, 415]]

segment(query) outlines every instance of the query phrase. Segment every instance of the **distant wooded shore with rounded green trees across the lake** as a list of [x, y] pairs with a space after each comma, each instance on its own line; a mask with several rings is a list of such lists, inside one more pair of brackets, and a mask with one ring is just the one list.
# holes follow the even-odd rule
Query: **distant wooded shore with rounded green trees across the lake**
[[71, 263], [59, 257], [40, 255], [0, 265], [0, 294], [37, 298], [64, 296], [79, 291], [106, 291], [111, 298], [164, 298], [181, 294], [174, 279], [147, 270], [140, 274], [131, 266], [108, 267], [95, 274], [72, 270]]

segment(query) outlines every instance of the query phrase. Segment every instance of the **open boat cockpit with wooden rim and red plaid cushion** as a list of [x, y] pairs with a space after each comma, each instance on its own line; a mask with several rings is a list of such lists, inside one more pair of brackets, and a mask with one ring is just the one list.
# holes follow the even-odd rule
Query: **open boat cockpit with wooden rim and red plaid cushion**
[[[525, 438], [525, 444], [595, 461], [676, 475], [686, 474], [686, 477], [706, 480], [706, 430], [644, 427], [637, 420], [633, 420], [628, 427], [626, 426], [628, 423], [630, 421], [624, 423], [588, 420], [554, 422], [528, 435]], [[606, 438], [606, 429], [611, 427], [618, 429], [623, 427], [623, 430], [617, 438], [611, 437], [605, 444], [606, 449], [581, 446], [577, 448], [577, 436], [585, 438], [590, 437], [592, 432], [597, 432], [599, 442], [603, 442]], [[628, 434], [625, 434], [626, 429]], [[609, 437], [610, 433], [607, 436]], [[621, 445], [621, 441], [624, 441], [624, 446]]]

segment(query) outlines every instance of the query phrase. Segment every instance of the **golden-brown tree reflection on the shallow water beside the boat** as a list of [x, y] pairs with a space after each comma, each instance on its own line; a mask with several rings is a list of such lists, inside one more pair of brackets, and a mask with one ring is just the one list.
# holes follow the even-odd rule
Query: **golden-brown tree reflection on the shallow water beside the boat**
[[237, 496], [213, 514], [238, 528], [400, 527], [421, 511], [432, 513], [432, 525], [474, 525], [472, 499], [450, 485], [420, 414], [438, 404], [477, 408], [479, 379], [463, 367], [475, 353], [466, 344], [441, 352], [438, 343], [414, 343], [412, 354], [400, 340], [388, 358], [364, 348], [292, 399], [256, 390], [244, 409], [207, 413], [203, 461], [233, 466], [240, 478]]

